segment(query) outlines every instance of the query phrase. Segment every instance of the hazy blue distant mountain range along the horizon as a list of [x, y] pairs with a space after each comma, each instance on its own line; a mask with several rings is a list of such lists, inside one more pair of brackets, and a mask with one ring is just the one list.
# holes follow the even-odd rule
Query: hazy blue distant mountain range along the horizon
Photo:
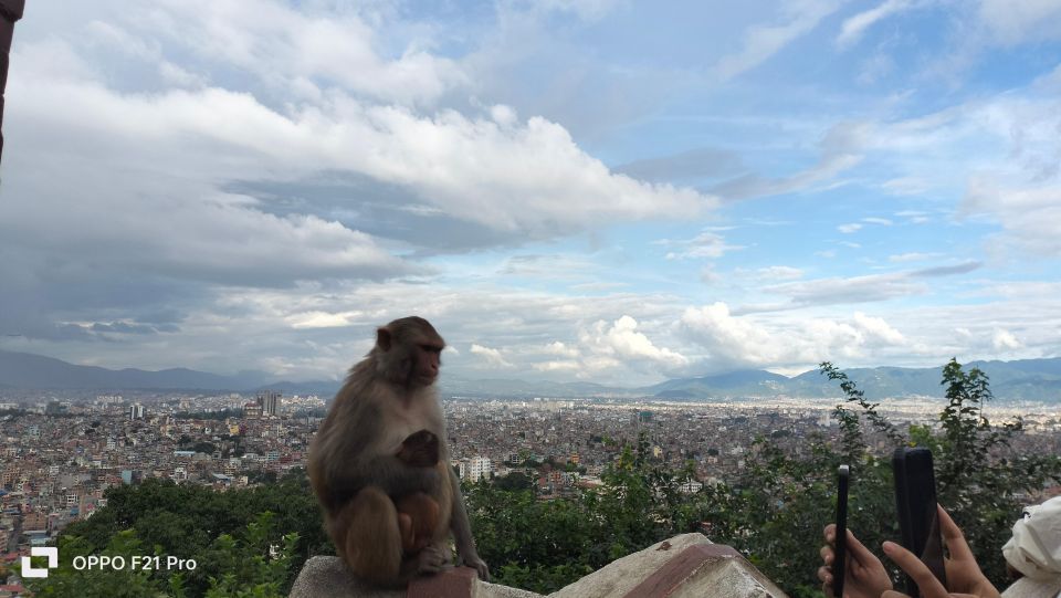
[[[991, 390], [1001, 400], [1039, 400], [1061, 402], [1061, 358], [1022, 359], [1018, 361], [971, 361], [965, 368], [978, 367], [991, 381]], [[844, 370], [869, 399], [887, 397], [943, 396], [939, 386], [943, 367], [875, 367]], [[76, 366], [60, 359], [0, 350], [0, 388], [11, 389], [83, 389], [83, 390], [209, 390], [253, 391], [274, 389], [290, 395], [330, 396], [338, 390], [337, 380], [291, 382], [276, 380], [261, 371], [220, 376], [185, 368], [146, 371], [113, 370]], [[796, 377], [760, 369], [738, 370], [698, 378], [666, 380], [641, 388], [605, 386], [591, 382], [551, 382], [547, 380], [469, 380], [443, 376], [444, 395], [470, 397], [654, 397], [670, 400], [710, 400], [739, 397], [839, 397], [839, 385], [830, 382], [817, 370]]]

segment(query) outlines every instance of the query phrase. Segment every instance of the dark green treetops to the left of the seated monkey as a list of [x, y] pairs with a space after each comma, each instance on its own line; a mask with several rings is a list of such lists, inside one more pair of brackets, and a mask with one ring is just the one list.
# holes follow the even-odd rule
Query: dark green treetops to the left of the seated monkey
[[[106, 497], [106, 507], [64, 531], [61, 546], [67, 538], [77, 544], [72, 552], [61, 548], [63, 559], [104, 554], [115, 538], [127, 535], [140, 546], [151, 546], [148, 554], [193, 558], [198, 567], [186, 571], [181, 583], [189, 597], [244, 596], [235, 587], [266, 592], [245, 596], [285, 595], [308, 556], [332, 552], [304, 472], [272, 485], [229, 492], [153, 479], [112, 487]], [[267, 563], [256, 560], [267, 552], [266, 538], [283, 547]], [[160, 595], [176, 596], [172, 588], [162, 587], [165, 578], [158, 580]]]

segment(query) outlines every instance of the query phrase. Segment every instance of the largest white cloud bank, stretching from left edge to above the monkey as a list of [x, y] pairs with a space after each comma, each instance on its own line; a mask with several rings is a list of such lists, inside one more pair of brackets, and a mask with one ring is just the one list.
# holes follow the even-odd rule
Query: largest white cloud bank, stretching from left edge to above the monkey
[[[274, 30], [272, 10], [218, 56], [274, 43], [255, 38]], [[49, 231], [35, 237], [40, 251], [94, 254], [115, 267], [252, 285], [424, 272], [337, 221], [265, 213], [255, 198], [223, 191], [232, 180], [363, 175], [418, 196], [420, 216], [473, 222], [508, 243], [713, 204], [691, 189], [609, 172], [544, 118], [500, 125], [504, 109], [420, 115], [339, 91], [283, 107], [219, 87], [119, 92], [56, 38], [20, 44], [14, 60], [23, 67], [8, 83], [4, 133], [19, 151], [6, 156], [0, 214], [20, 230]]]

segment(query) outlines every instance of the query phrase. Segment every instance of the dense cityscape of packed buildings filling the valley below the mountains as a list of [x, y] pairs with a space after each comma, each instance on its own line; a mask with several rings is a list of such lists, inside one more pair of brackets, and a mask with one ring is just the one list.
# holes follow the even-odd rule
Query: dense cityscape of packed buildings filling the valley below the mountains
[[[461, 478], [526, 475], [548, 500], [600, 483], [623, 442], [639, 434], [653, 458], [692, 462], [684, 490], [732, 481], [756, 438], [801, 454], [811, 434], [834, 438], [837, 400], [731, 399], [661, 402], [629, 399], [443, 401], [453, 465]], [[884, 403], [897, 423], [932, 421], [939, 399]], [[326, 401], [316, 396], [228, 394], [40, 392], [0, 400], [0, 546], [9, 567], [29, 548], [106, 505], [105, 491], [147, 478], [209, 485], [219, 492], [269, 483], [304, 466]], [[1061, 410], [1039, 403], [994, 403], [995, 422], [1020, 415], [1012, 450], [1061, 452]], [[878, 449], [886, 450], [884, 439]], [[1043, 489], [1043, 496], [1061, 489]], [[1040, 497], [1028, 497], [1036, 500]]]

